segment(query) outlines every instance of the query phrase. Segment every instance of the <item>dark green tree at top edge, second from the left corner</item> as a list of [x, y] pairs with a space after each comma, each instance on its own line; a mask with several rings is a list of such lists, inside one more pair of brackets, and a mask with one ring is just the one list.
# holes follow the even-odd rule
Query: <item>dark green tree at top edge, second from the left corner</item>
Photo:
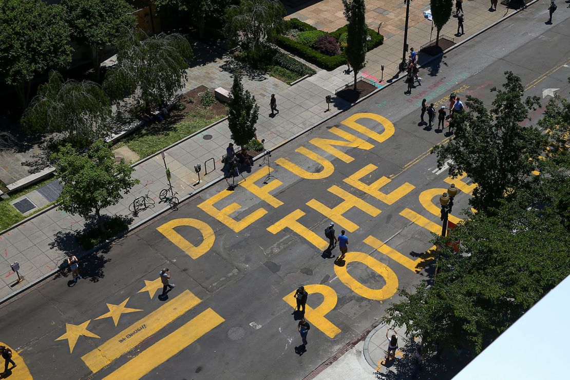
[[125, 0], [62, 0], [61, 4], [75, 39], [89, 47], [98, 81], [103, 49], [135, 27], [135, 9]]

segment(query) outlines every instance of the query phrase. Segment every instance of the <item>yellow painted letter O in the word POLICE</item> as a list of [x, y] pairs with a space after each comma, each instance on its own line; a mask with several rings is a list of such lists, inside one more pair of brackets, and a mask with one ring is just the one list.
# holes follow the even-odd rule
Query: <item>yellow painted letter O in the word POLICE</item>
[[[385, 300], [392, 297], [398, 290], [398, 277], [392, 269], [387, 265], [382, 264], [380, 261], [374, 259], [372, 256], [364, 254], [363, 252], [348, 252], [344, 258], [345, 264], [342, 267], [335, 265], [335, 273], [339, 280], [343, 281], [357, 295], [363, 296], [369, 300]], [[363, 263], [368, 265], [370, 269], [382, 276], [386, 284], [380, 289], [369, 288], [361, 284], [358, 280], [348, 273], [349, 263]]]

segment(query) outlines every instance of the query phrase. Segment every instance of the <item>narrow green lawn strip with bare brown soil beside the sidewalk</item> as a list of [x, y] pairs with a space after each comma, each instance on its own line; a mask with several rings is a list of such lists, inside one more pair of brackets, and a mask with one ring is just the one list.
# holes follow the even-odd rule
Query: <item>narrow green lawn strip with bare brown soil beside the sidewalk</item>
[[183, 121], [166, 129], [160, 129], [160, 125], [141, 128], [131, 136], [117, 142], [113, 149], [127, 145], [140, 158], [145, 158], [225, 116], [207, 111], [190, 112]]

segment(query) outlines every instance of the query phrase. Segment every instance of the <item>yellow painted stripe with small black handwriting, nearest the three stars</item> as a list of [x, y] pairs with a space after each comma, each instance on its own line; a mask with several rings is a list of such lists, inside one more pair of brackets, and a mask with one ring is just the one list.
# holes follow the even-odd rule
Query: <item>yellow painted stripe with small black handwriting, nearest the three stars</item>
[[199, 303], [200, 299], [186, 290], [98, 348], [85, 354], [82, 359], [89, 369], [96, 373]]

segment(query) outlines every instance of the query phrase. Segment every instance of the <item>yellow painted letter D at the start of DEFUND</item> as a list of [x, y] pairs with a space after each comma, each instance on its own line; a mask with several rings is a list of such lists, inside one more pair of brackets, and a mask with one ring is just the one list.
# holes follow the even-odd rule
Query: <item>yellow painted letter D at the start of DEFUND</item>
[[[200, 231], [203, 239], [202, 243], [198, 246], [194, 246], [194, 244], [190, 243], [188, 240], [183, 238], [182, 235], [174, 231], [174, 228], [180, 226], [190, 226]], [[212, 230], [209, 224], [202, 222], [202, 220], [192, 218], [173, 219], [162, 224], [162, 226], [157, 227], [156, 229], [162, 235], [166, 236], [168, 240], [173, 242], [178, 248], [186, 252], [186, 255], [193, 259], [199, 258], [209, 251], [214, 245], [214, 230]]]

